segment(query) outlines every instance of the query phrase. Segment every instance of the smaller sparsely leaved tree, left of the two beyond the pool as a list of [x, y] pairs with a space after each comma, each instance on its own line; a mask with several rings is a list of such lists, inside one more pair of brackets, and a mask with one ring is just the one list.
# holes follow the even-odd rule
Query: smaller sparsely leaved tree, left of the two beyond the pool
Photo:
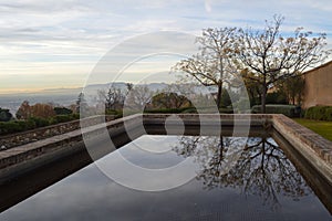
[[217, 86], [217, 106], [220, 107], [222, 85], [229, 82], [234, 73], [232, 44], [235, 42], [235, 28], [205, 29], [203, 35], [197, 38], [199, 53], [189, 59], [179, 61], [174, 70], [183, 71], [193, 76], [205, 86]]

